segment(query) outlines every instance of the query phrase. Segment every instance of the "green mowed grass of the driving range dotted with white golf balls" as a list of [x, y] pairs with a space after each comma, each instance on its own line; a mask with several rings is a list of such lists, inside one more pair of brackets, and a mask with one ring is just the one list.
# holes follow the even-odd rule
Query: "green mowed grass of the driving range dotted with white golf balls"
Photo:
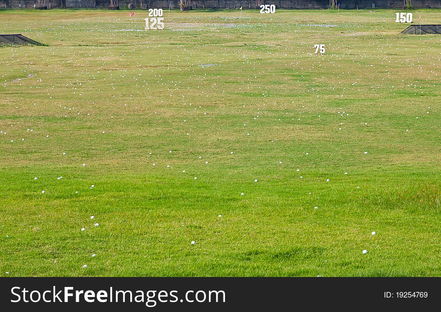
[[440, 276], [441, 36], [396, 11], [0, 10], [48, 44], [0, 48], [0, 275]]

